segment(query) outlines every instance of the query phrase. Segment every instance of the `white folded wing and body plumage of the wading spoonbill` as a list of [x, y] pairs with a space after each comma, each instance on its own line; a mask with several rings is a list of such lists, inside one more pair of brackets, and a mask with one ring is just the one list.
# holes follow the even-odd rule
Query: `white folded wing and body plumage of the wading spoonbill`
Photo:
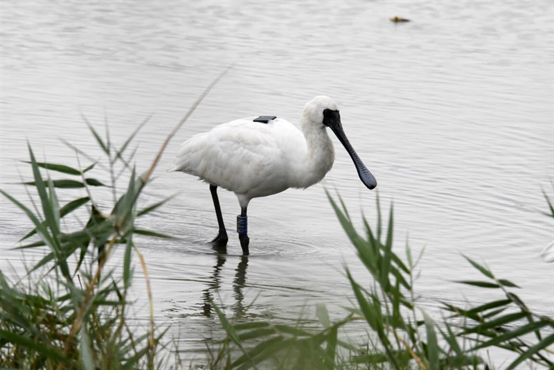
[[303, 135], [282, 118], [267, 124], [252, 120], [231, 121], [191, 137], [181, 145], [172, 170], [252, 197], [265, 195], [256, 193], [259, 188], [285, 190], [289, 151], [302, 147]]

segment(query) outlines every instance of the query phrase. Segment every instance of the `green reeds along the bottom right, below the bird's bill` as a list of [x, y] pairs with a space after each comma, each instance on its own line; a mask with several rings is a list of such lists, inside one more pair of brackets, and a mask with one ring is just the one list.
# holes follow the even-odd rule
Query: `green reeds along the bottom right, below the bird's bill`
[[[490, 369], [481, 356], [490, 349], [512, 353], [503, 369], [554, 367], [554, 319], [533, 312], [513, 289], [515, 283], [499, 279], [487, 267], [465, 259], [483, 276], [458, 281], [492, 290], [490, 301], [470, 307], [437, 302], [440, 319], [419, 304], [414, 260], [406, 245], [406, 257], [393, 252], [393, 211], [383, 226], [377, 200], [377, 226], [364, 218], [364, 234], [355, 229], [342, 201], [328, 198], [339, 222], [354, 245], [361, 263], [373, 276], [368, 284], [357, 282], [346, 268], [356, 306], [339, 321], [331, 321], [325, 306], [316, 307], [319, 330], [275, 324], [271, 320], [231, 323], [217, 308], [227, 336], [213, 367], [250, 369]], [[547, 198], [548, 200], [548, 198]], [[553, 210], [548, 200], [549, 208]], [[554, 218], [554, 211], [552, 211]], [[340, 331], [349, 324], [366, 326], [368, 340], [361, 346], [343, 342]]]

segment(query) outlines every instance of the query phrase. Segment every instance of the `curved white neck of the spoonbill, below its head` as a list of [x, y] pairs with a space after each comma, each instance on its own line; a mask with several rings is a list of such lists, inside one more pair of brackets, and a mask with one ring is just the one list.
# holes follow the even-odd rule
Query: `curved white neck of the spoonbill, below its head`
[[334, 148], [325, 127], [316, 127], [302, 117], [302, 132], [306, 139], [306, 152], [302, 169], [298, 173], [299, 188], [316, 184], [329, 172], [334, 161]]

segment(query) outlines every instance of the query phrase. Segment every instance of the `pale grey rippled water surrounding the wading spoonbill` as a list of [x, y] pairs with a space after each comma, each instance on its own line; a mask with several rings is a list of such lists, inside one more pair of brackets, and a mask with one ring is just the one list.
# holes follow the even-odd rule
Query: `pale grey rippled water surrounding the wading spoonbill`
[[[395, 15], [412, 21], [388, 21]], [[321, 184], [251, 202], [249, 258], [234, 235], [229, 254], [210, 249], [217, 222], [208, 186], [166, 173], [193, 134], [258, 114], [296, 121], [320, 94], [339, 102], [384, 209], [394, 202], [397, 250], [408, 236], [414, 253], [425, 247], [424, 306], [490, 298], [452, 282], [480, 278], [465, 254], [554, 314], [554, 265], [540, 257], [554, 238], [541, 214], [542, 189], [554, 191], [553, 2], [2, 1], [0, 17], [1, 187], [21, 200], [26, 141], [39, 159], [76, 166], [60, 138], [98, 153], [80, 114], [102, 132], [107, 118], [118, 142], [153, 114], [137, 138], [145, 170], [197, 96], [235, 63], [170, 143], [145, 193], [147, 202], [178, 193], [141, 224], [177, 239], [139, 245], [157, 321], [172, 324], [185, 358], [202, 358], [204, 338], [221, 335], [209, 299], [231, 317], [313, 317], [318, 302], [342, 317], [352, 299], [344, 266], [370, 281], [324, 188], [340, 193], [359, 225], [361, 213], [375, 224], [377, 192], [359, 182], [336, 139]], [[220, 201], [233, 229], [235, 195], [221, 191]], [[5, 198], [0, 205], [1, 269], [21, 273], [11, 248], [29, 222]], [[25, 253], [37, 261], [44, 252]], [[141, 299], [143, 286], [136, 281]], [[146, 319], [144, 304], [136, 310]]]

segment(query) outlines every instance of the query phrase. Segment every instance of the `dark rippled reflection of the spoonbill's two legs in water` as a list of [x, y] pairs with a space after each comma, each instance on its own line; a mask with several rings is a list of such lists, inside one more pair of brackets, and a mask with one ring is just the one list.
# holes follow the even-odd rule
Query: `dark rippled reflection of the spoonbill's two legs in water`
[[[212, 317], [214, 312], [211, 301], [215, 301], [215, 303], [218, 302], [214, 298], [219, 299], [219, 297], [217, 297], [217, 293], [221, 283], [220, 274], [222, 271], [222, 267], [225, 265], [227, 259], [225, 247], [214, 247], [213, 249], [215, 250], [215, 252], [217, 252], [217, 254], [215, 254], [216, 262], [215, 265], [213, 265], [213, 273], [211, 275], [211, 279], [208, 281], [208, 287], [204, 289], [204, 292], [202, 294], [202, 313], [206, 317]], [[244, 315], [244, 304], [242, 302], [244, 299], [244, 294], [242, 293], [242, 289], [244, 288], [244, 285], [246, 285], [247, 267], [248, 257], [241, 256], [239, 263], [235, 268], [235, 279], [233, 279], [235, 304], [233, 304], [231, 307], [233, 308], [234, 317], [242, 317], [242, 315]]]

